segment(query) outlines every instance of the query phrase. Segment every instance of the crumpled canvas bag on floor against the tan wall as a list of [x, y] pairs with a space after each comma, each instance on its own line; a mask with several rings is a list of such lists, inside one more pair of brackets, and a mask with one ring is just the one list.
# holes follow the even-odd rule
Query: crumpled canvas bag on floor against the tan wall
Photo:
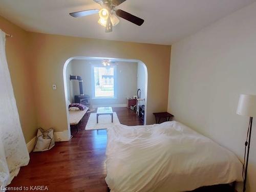
[[50, 150], [55, 145], [53, 129], [44, 130], [39, 128], [33, 152], [44, 152]]

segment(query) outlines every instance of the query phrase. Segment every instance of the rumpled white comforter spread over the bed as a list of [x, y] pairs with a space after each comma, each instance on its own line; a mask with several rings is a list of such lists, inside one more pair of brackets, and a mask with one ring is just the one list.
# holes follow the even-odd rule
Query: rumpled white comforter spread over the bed
[[108, 129], [106, 171], [112, 192], [176, 192], [242, 181], [236, 155], [177, 121]]

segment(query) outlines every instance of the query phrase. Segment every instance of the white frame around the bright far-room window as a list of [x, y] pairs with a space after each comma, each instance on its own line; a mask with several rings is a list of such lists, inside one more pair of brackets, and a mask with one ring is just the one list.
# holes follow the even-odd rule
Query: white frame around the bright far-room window
[[[94, 68], [114, 68], [114, 96], [113, 97], [95, 97], [95, 77], [94, 77]], [[92, 82], [92, 99], [116, 99], [117, 98], [117, 66], [111, 63], [110, 66], [103, 66], [102, 64], [91, 65], [91, 82]]]

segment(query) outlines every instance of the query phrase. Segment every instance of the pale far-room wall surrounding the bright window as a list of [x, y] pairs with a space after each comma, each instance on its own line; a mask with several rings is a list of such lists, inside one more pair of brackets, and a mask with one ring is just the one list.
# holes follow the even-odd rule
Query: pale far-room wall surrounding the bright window
[[[117, 95], [116, 98], [111, 99], [93, 99], [92, 95], [92, 77], [91, 77], [91, 66], [99, 65], [102, 61], [95, 60], [72, 60], [68, 68], [72, 69], [71, 75], [79, 75], [83, 79], [83, 92], [84, 94], [90, 95], [91, 106], [126, 106], [126, 97], [132, 97], [136, 95], [137, 91], [137, 62], [124, 62], [116, 61], [116, 77], [117, 77]], [[69, 74], [69, 75], [70, 75]], [[69, 75], [67, 78], [69, 79]], [[72, 101], [74, 102], [74, 95], [79, 95], [79, 84], [78, 81], [71, 81], [73, 87]]]

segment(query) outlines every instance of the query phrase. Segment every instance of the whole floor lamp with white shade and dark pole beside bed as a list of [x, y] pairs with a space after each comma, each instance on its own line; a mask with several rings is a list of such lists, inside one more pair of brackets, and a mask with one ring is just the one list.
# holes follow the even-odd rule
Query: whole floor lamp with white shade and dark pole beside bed
[[248, 131], [247, 131], [247, 138], [245, 142], [244, 164], [243, 164], [243, 179], [244, 179], [243, 192], [244, 192], [246, 190], [248, 159], [249, 159], [250, 142], [251, 142], [252, 117], [256, 116], [256, 95], [244, 95], [244, 94], [240, 95], [237, 114], [250, 117]]

